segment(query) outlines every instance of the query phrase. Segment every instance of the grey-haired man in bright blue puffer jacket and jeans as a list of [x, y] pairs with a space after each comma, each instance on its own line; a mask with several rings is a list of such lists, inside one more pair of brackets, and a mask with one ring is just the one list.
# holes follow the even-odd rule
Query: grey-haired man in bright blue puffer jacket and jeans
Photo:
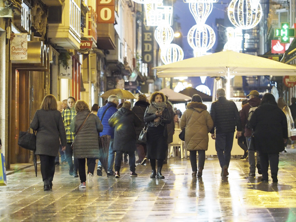
[[[107, 104], [99, 108], [98, 114], [97, 114], [97, 116], [101, 120], [104, 127], [103, 131], [100, 133], [100, 136], [103, 136], [103, 135], [111, 136], [110, 145], [109, 145], [109, 154], [108, 154], [108, 169], [107, 169], [108, 177], [115, 176], [115, 173], [113, 171], [113, 164], [114, 164], [114, 158], [115, 158], [115, 152], [113, 151], [114, 127], [109, 126], [108, 120], [115, 112], [117, 112], [118, 104], [119, 104], [118, 96], [111, 95], [108, 97]], [[97, 175], [102, 176], [102, 164], [100, 161], [98, 161]]]

